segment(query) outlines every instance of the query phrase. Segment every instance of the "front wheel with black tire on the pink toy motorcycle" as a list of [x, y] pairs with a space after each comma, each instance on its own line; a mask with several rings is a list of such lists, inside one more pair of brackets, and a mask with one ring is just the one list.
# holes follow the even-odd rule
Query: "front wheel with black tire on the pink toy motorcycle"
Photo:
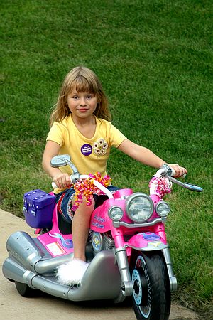
[[133, 309], [138, 320], [168, 320], [170, 282], [160, 252], [135, 252], [131, 268]]

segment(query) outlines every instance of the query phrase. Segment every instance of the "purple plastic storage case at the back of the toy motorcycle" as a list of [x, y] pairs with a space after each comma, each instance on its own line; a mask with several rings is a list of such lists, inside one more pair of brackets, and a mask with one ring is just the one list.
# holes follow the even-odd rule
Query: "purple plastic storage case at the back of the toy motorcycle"
[[51, 228], [55, 196], [40, 189], [24, 193], [23, 215], [32, 228]]

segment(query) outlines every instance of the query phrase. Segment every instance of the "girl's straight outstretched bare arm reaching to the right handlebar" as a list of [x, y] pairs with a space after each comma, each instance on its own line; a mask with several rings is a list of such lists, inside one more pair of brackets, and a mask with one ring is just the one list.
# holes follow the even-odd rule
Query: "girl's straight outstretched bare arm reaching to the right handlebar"
[[[144, 146], [139, 146], [138, 144], [131, 142], [129, 139], [125, 139], [123, 142], [121, 142], [118, 149], [142, 164], [153, 166], [154, 168], [160, 168], [160, 166], [167, 163], [156, 156], [151, 150], [145, 148]], [[169, 166], [175, 170], [176, 177], [187, 173], [187, 170], [178, 164], [169, 164]]]

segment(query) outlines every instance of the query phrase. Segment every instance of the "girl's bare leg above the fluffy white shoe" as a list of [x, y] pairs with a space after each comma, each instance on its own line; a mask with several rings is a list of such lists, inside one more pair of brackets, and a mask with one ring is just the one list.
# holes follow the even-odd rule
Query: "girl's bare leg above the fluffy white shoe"
[[75, 211], [72, 219], [72, 241], [74, 245], [74, 259], [86, 261], [85, 247], [89, 233], [89, 221], [94, 210], [94, 200], [91, 206], [87, 206], [86, 199], [83, 199]]

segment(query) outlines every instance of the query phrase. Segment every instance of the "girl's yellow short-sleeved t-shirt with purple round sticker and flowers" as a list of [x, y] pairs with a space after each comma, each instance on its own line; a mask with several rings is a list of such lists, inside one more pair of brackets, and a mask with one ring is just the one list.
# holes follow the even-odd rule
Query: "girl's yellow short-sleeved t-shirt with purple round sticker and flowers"
[[[107, 159], [111, 146], [118, 147], [126, 139], [111, 122], [96, 117], [94, 137], [84, 137], [72, 121], [72, 115], [62, 122], [54, 122], [47, 140], [57, 142], [61, 148], [59, 154], [70, 154], [71, 161], [80, 174], [107, 174]], [[62, 172], [72, 174], [70, 166], [60, 167]], [[57, 192], [59, 192], [58, 189]]]

